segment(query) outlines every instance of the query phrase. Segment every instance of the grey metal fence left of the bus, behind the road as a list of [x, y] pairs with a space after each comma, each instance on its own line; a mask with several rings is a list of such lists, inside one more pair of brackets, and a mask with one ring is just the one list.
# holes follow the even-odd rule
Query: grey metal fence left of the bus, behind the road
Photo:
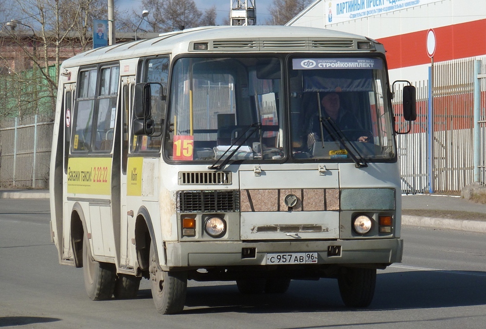
[[0, 187], [49, 186], [53, 122], [35, 115], [0, 125]]

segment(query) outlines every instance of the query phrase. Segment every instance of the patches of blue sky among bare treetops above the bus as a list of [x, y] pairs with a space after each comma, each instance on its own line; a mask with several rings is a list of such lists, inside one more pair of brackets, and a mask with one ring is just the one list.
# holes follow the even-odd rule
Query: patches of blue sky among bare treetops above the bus
[[[142, 6], [142, 0], [114, 0], [115, 6], [120, 6], [120, 9], [134, 9], [141, 13], [144, 8]], [[230, 2], [231, 1], [231, 2]], [[244, 0], [241, 0], [244, 3]], [[229, 19], [229, 8], [231, 4], [238, 3], [236, 0], [194, 0], [197, 9], [204, 13], [206, 9], [211, 6], [216, 6], [216, 23], [222, 24], [225, 18]], [[273, 3], [273, 0], [254, 0], [254, 5], [257, 14], [257, 24], [264, 25], [264, 23], [270, 19], [269, 6]], [[150, 13], [149, 13], [150, 15]]]

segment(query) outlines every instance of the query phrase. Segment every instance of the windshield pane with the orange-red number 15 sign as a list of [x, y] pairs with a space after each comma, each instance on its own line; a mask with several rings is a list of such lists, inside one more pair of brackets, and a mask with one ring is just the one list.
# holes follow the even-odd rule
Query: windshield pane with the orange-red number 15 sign
[[168, 159], [284, 158], [278, 58], [181, 58], [172, 72]]

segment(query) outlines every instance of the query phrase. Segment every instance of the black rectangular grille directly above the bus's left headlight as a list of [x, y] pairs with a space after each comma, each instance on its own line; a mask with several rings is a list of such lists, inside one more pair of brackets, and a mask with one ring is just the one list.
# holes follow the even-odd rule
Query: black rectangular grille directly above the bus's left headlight
[[179, 191], [179, 213], [228, 213], [240, 211], [239, 190]]

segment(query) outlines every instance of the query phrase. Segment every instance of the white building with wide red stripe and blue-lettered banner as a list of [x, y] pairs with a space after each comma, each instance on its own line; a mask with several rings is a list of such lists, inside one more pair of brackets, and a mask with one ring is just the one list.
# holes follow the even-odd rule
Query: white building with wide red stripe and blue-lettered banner
[[434, 62], [486, 55], [485, 0], [316, 0], [287, 25], [319, 27], [381, 42], [390, 79], [428, 79], [427, 33]]

